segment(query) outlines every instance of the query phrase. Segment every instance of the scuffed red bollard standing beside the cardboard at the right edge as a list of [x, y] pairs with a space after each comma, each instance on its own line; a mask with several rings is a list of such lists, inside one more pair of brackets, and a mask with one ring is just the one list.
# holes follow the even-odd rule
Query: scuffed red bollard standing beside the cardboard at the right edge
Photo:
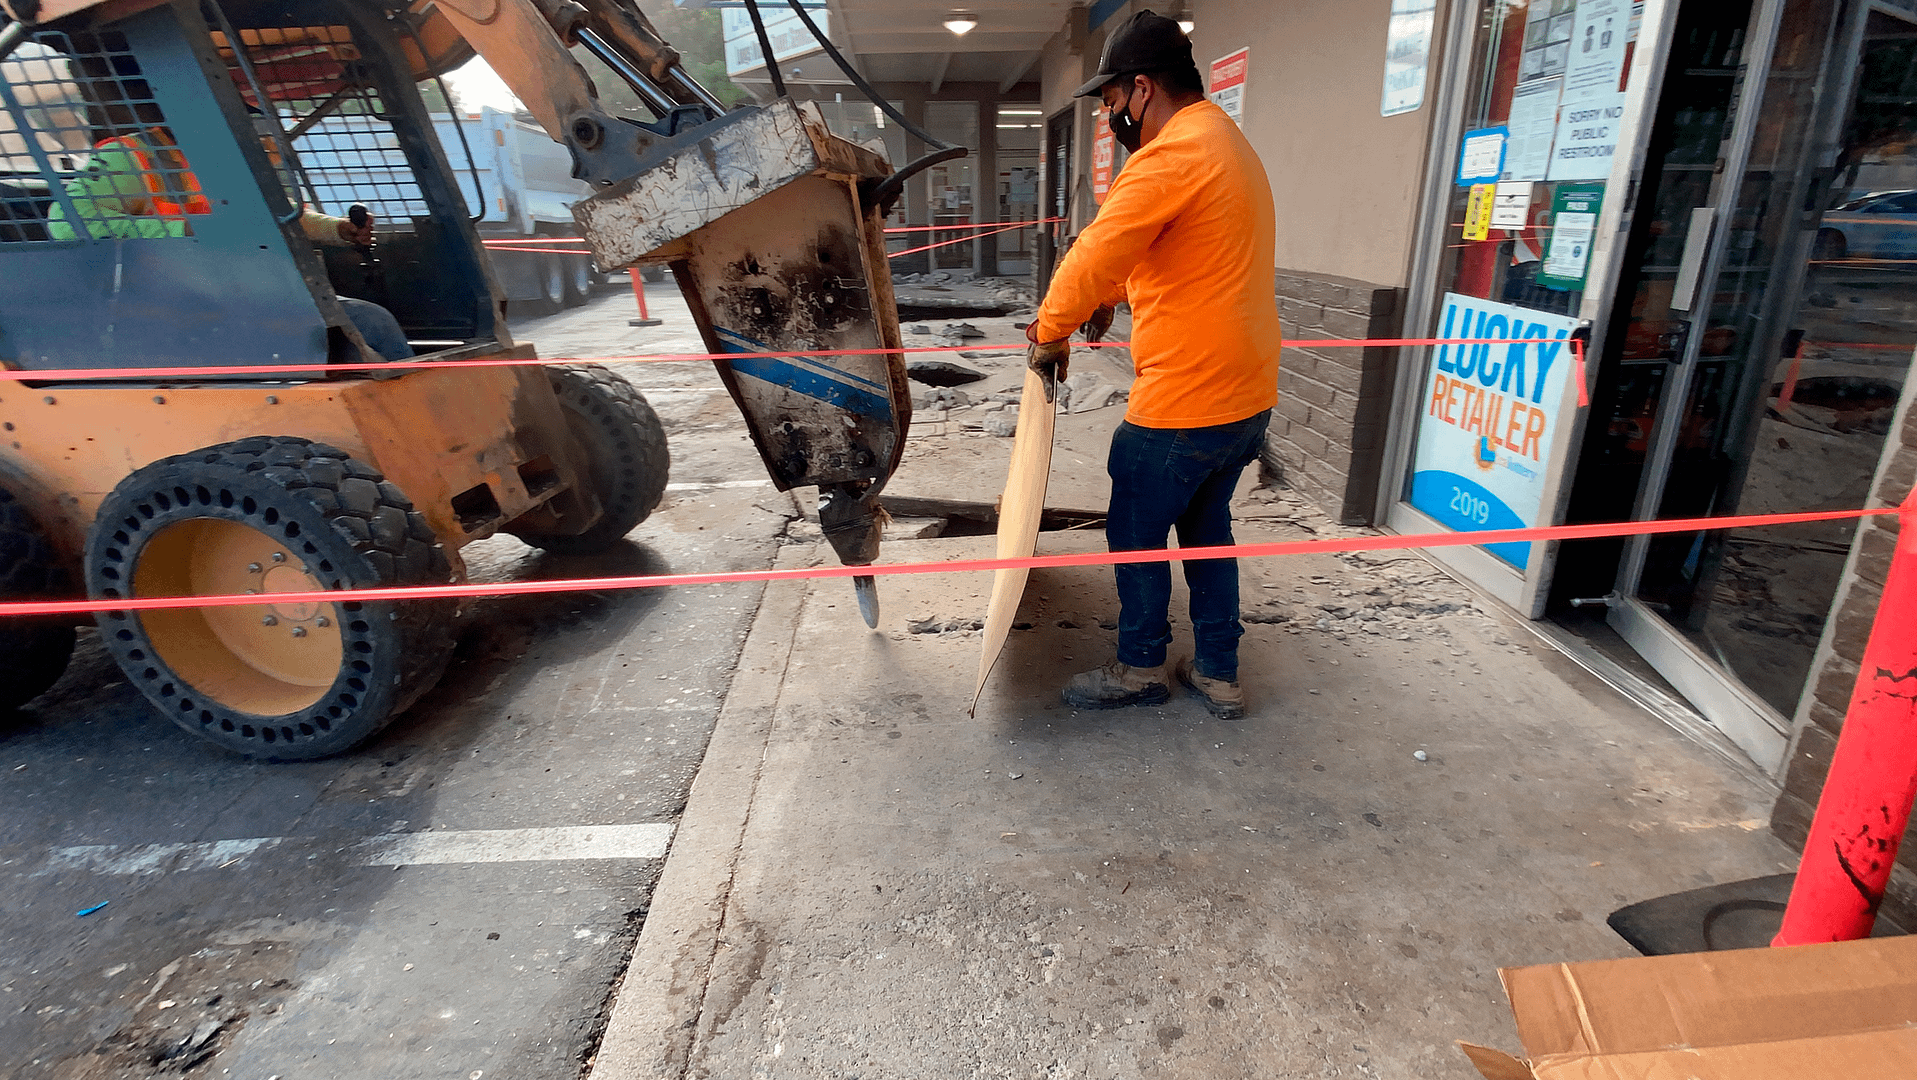
[[1917, 491], [1773, 946], [1867, 938], [1917, 796]]

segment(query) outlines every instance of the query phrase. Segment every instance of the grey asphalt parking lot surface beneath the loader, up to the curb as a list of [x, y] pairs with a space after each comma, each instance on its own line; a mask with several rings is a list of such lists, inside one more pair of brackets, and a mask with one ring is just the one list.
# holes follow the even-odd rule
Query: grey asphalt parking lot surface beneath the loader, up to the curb
[[[671, 286], [652, 309], [631, 330], [612, 290], [516, 330], [544, 357], [700, 349]], [[792, 505], [711, 368], [623, 370], [667, 426], [665, 505], [598, 558], [485, 541], [475, 577], [771, 564]], [[190, 739], [88, 635], [0, 731], [0, 1074], [575, 1076], [759, 593], [485, 600], [420, 706], [299, 765]]]

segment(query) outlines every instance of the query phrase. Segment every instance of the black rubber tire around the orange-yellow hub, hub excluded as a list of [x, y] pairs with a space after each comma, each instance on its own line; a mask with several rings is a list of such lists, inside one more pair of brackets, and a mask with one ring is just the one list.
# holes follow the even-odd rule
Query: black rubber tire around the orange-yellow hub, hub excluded
[[[86, 591], [130, 593], [144, 547], [167, 526], [215, 518], [280, 539], [324, 589], [443, 585], [445, 549], [412, 503], [345, 451], [259, 435], [161, 458], [127, 476], [86, 539]], [[255, 716], [213, 700], [161, 658], [138, 612], [100, 612], [102, 643], [153, 708], [247, 758], [303, 762], [372, 739], [418, 700], [452, 654], [449, 600], [341, 602], [339, 671], [318, 700]]]

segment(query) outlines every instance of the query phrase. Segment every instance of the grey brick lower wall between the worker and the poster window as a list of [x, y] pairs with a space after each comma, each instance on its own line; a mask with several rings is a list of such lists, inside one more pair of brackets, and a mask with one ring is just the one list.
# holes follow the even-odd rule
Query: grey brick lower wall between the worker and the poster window
[[[1284, 336], [1396, 338], [1401, 290], [1277, 272]], [[1348, 526], [1369, 524], [1384, 466], [1397, 349], [1284, 349], [1265, 468]]]

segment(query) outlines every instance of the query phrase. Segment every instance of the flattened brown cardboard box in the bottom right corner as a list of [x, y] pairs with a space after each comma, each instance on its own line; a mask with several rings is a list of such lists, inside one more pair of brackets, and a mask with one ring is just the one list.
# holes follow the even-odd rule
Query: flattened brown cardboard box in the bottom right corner
[[1486, 1080], [1917, 1078], [1917, 936], [1507, 967]]

